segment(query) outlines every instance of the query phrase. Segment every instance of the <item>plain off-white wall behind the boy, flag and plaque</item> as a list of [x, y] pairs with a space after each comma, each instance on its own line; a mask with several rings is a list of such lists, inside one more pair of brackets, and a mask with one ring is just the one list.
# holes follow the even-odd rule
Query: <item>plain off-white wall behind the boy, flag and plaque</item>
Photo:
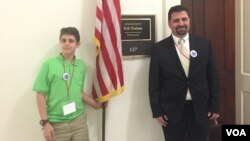
[[[180, 0], [121, 0], [123, 14], [155, 14], [157, 41], [169, 35], [165, 27], [170, 5]], [[95, 0], [0, 0], [0, 140], [42, 141], [34, 78], [41, 63], [59, 52], [61, 27], [80, 30], [77, 56], [88, 67], [85, 90], [90, 92], [95, 60]], [[106, 109], [107, 141], [163, 141], [148, 100], [149, 58], [123, 61], [125, 92]], [[91, 141], [101, 141], [101, 110], [87, 106]]]

